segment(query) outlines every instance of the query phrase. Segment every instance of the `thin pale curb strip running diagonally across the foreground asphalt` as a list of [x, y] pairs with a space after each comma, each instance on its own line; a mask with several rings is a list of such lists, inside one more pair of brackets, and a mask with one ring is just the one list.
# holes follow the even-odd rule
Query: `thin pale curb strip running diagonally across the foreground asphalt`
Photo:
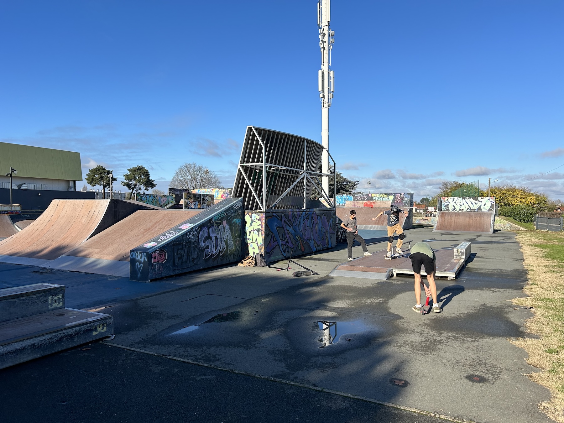
[[278, 378], [275, 378], [275, 377], [263, 376], [262, 374], [244, 372], [244, 371], [235, 370], [235, 369], [228, 369], [226, 367], [221, 367], [221, 366], [214, 365], [214, 364], [195, 362], [193, 360], [188, 360], [188, 359], [185, 359], [185, 358], [179, 358], [179, 357], [175, 357], [173, 355], [166, 355], [166, 354], [160, 354], [158, 352], [140, 350], [138, 348], [126, 347], [124, 345], [118, 345], [116, 343], [111, 343], [111, 342], [105, 342], [103, 340], [99, 341], [99, 342], [103, 342], [105, 345], [109, 345], [109, 346], [112, 346], [112, 347], [118, 347], [118, 348], [121, 348], [121, 349], [124, 349], [124, 350], [135, 351], [135, 352], [143, 352], [143, 354], [155, 355], [155, 356], [158, 356], [158, 357], [168, 358], [170, 360], [177, 360], [177, 361], [183, 362], [183, 363], [199, 365], [201, 367], [209, 367], [209, 368], [212, 368], [212, 369], [222, 370], [224, 372], [230, 372], [230, 373], [235, 373], [235, 374], [244, 374], [245, 376], [257, 377], [259, 379], [265, 379], [265, 380], [269, 380], [269, 381], [272, 381], [272, 382], [279, 382], [281, 384], [298, 386], [298, 387], [311, 389], [311, 390], [314, 390], [314, 391], [325, 392], [325, 393], [328, 393], [328, 394], [345, 396], [346, 398], [359, 399], [359, 400], [362, 400], [362, 401], [378, 404], [380, 406], [398, 408], [398, 409], [401, 409], [403, 411], [409, 411], [409, 412], [421, 414], [421, 415], [424, 415], [424, 416], [440, 418], [441, 420], [452, 421], [452, 422], [456, 422], [456, 423], [475, 423], [473, 420], [464, 420], [464, 419], [455, 418], [455, 417], [443, 416], [443, 415], [439, 415], [438, 413], [433, 413], [433, 412], [430, 412], [430, 411], [400, 406], [398, 404], [393, 404], [393, 403], [386, 403], [386, 402], [383, 402], [383, 401], [378, 401], [376, 399], [366, 398], [365, 396], [347, 394], [345, 392], [334, 391], [332, 389], [325, 389], [325, 388], [322, 388], [322, 387], [319, 387], [319, 386], [311, 386], [311, 385], [306, 385], [306, 384], [300, 384], [298, 382], [287, 381], [287, 380], [278, 379]]

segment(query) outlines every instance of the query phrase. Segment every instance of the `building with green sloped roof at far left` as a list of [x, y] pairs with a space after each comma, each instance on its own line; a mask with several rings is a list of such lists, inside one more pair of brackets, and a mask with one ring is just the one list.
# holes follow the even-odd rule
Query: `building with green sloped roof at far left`
[[82, 180], [80, 153], [53, 148], [0, 143], [0, 188], [12, 190], [76, 191]]

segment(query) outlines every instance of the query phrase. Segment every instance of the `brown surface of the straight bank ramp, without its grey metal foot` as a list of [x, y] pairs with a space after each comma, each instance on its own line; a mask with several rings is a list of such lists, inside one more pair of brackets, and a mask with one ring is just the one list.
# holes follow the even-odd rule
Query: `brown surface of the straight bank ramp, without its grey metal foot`
[[[204, 209], [205, 210], [205, 209]], [[74, 257], [129, 261], [129, 252], [147, 240], [173, 229], [202, 209], [139, 210], [65, 253]]]

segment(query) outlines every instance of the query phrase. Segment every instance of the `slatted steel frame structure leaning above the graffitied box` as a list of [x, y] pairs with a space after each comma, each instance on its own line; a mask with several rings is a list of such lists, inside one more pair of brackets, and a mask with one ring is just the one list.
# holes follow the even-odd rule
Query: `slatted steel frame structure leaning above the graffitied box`
[[[334, 174], [319, 171], [324, 151], [333, 161]], [[232, 195], [245, 198], [246, 210], [306, 209], [315, 187], [330, 208], [334, 208], [320, 180], [331, 176], [334, 191], [336, 163], [321, 144], [298, 135], [247, 126]]]

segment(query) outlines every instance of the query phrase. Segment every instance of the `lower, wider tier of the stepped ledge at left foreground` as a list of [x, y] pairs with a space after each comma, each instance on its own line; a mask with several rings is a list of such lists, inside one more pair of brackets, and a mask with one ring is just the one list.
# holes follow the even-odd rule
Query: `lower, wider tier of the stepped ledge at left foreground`
[[113, 316], [62, 309], [0, 323], [0, 369], [104, 338]]

